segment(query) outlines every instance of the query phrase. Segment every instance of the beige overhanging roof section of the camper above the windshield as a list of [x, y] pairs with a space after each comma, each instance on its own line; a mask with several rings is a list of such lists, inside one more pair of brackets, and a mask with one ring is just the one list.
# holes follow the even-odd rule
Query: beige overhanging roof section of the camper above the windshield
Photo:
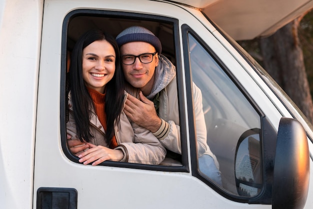
[[267, 36], [313, 7], [313, 0], [171, 0], [201, 9], [235, 40]]

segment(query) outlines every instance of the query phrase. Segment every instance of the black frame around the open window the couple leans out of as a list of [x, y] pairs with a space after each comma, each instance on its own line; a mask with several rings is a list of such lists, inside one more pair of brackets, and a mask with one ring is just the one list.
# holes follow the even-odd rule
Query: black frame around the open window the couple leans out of
[[145, 170], [160, 170], [160, 171], [170, 171], [170, 172], [189, 172], [188, 165], [188, 151], [187, 151], [187, 134], [186, 134], [186, 121], [185, 121], [185, 107], [184, 107], [184, 93], [183, 93], [183, 78], [182, 78], [182, 65], [180, 57], [180, 41], [179, 41], [179, 26], [178, 19], [152, 15], [152, 14], [142, 14], [133, 12], [121, 12], [121, 11], [110, 11], [110, 10], [99, 10], [99, 9], [75, 9], [66, 14], [63, 19], [62, 24], [62, 36], [61, 36], [61, 70], [60, 70], [60, 135], [61, 135], [61, 147], [65, 156], [75, 162], [78, 161], [78, 157], [72, 154], [66, 143], [66, 96], [65, 95], [65, 83], [66, 83], [66, 53], [67, 53], [67, 28], [69, 22], [72, 18], [76, 16], [97, 16], [104, 18], [120, 18], [120, 19], [139, 19], [155, 22], [164, 22], [172, 24], [173, 27], [173, 43], [175, 54], [175, 66], [176, 66], [176, 79], [177, 79], [177, 93], [178, 93], [178, 108], [180, 117], [180, 138], [181, 138], [181, 163], [182, 166], [165, 166], [165, 165], [148, 165], [148, 164], [137, 164], [129, 162], [114, 162], [114, 161], [104, 161], [99, 165], [102, 166], [112, 166], [112, 167], [124, 167], [124, 168], [135, 168], [135, 169], [145, 169]]

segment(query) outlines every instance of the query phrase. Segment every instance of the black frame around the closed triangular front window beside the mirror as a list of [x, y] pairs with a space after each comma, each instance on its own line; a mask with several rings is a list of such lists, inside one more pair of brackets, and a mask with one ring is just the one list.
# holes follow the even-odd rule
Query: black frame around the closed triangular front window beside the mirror
[[[271, 184], [272, 184], [272, 170], [273, 164], [272, 161], [275, 156], [275, 147], [276, 147], [276, 137], [277, 131], [270, 123], [266, 115], [258, 107], [258, 105], [253, 101], [251, 96], [247, 91], [242, 87], [238, 82], [235, 76], [230, 72], [226, 65], [217, 57], [214, 51], [204, 42], [201, 37], [187, 24], [181, 25], [182, 31], [182, 46], [183, 46], [183, 60], [185, 65], [185, 77], [186, 77], [186, 95], [187, 95], [187, 109], [188, 109], [188, 118], [189, 118], [189, 141], [190, 141], [190, 159], [191, 159], [191, 173], [196, 178], [200, 179], [217, 193], [224, 196], [227, 199], [243, 202], [243, 203], [261, 203], [261, 204], [271, 204]], [[191, 62], [189, 55], [189, 39], [188, 34], [191, 34], [198, 42], [206, 49], [207, 53], [216, 61], [220, 68], [226, 73], [226, 75], [232, 80], [232, 82], [237, 86], [241, 93], [246, 97], [247, 101], [255, 109], [255, 111], [260, 116], [260, 166], [262, 174], [262, 188], [256, 196], [246, 197], [238, 196], [227, 192], [225, 189], [222, 189], [213, 181], [208, 180], [200, 174], [197, 165], [197, 152], [196, 152], [196, 126], [194, 120], [193, 112], [193, 93], [192, 93], [192, 71], [191, 71]], [[193, 118], [193, 119], [192, 119]], [[264, 140], [266, 136], [266, 140]], [[213, 151], [213, 150], [212, 150]], [[214, 152], [213, 152], [214, 153]]]

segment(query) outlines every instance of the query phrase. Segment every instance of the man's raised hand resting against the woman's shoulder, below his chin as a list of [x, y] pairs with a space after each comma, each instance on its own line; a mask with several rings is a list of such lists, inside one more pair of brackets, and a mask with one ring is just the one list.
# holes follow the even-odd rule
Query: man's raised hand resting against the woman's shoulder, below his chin
[[136, 124], [151, 132], [156, 132], [161, 126], [161, 119], [157, 116], [153, 101], [139, 92], [140, 100], [128, 94], [125, 102], [125, 114]]

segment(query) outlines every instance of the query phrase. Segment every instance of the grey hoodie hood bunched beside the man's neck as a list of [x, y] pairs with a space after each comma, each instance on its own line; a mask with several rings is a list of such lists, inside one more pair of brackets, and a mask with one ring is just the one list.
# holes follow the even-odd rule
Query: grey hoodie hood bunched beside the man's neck
[[153, 98], [158, 92], [164, 89], [168, 83], [175, 77], [176, 68], [164, 55], [159, 55], [158, 65], [155, 68], [155, 77], [152, 90], [148, 99]]

